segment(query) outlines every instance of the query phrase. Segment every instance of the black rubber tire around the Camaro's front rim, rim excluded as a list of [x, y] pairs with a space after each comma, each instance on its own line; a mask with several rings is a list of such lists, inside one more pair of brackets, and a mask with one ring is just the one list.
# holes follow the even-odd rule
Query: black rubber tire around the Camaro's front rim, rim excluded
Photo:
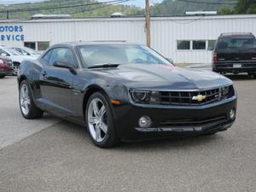
[[[106, 108], [106, 116], [107, 116], [107, 122], [108, 122], [108, 131], [102, 140], [102, 142], [97, 142], [96, 139], [91, 135], [90, 133], [90, 128], [89, 128], [89, 122], [88, 122], [88, 111], [89, 111], [89, 106], [92, 100], [94, 99], [100, 99], [105, 108]], [[100, 148], [111, 148], [119, 143], [119, 138], [117, 137], [116, 134], [116, 127], [113, 122], [113, 111], [110, 106], [110, 103], [108, 102], [108, 96], [105, 96], [101, 92], [95, 92], [92, 94], [87, 102], [86, 109], [85, 109], [85, 121], [86, 121], [86, 127], [87, 131], [89, 132], [90, 139], [92, 143], [94, 143], [96, 146]]]

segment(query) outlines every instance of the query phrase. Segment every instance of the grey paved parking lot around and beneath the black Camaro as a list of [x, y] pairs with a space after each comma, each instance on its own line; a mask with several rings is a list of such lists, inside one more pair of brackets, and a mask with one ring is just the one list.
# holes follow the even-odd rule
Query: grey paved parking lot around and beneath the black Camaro
[[101, 149], [83, 127], [22, 119], [14, 77], [0, 79], [0, 191], [256, 191], [256, 80], [229, 76], [236, 124], [209, 137]]

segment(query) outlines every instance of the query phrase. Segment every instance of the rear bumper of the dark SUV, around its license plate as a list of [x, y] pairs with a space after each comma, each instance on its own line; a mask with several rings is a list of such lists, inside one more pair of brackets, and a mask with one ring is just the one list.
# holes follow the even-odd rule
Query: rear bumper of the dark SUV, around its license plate
[[[241, 67], [234, 67], [233, 64], [241, 64]], [[214, 72], [225, 73], [256, 73], [256, 62], [249, 61], [229, 61], [229, 62], [214, 62], [212, 63]]]

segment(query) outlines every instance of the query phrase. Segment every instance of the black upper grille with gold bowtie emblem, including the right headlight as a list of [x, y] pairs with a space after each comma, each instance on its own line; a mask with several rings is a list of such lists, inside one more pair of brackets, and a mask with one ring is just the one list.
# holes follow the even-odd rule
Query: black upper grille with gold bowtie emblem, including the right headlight
[[[159, 91], [149, 103], [162, 105], [204, 105], [218, 102], [235, 95], [232, 85], [202, 91]], [[152, 102], [154, 101], [154, 102]]]

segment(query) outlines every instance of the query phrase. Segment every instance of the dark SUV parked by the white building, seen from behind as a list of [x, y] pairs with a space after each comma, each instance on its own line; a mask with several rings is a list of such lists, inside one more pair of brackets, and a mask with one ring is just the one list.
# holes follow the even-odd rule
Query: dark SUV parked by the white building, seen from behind
[[248, 73], [256, 78], [256, 40], [251, 33], [223, 33], [212, 53], [212, 71]]

